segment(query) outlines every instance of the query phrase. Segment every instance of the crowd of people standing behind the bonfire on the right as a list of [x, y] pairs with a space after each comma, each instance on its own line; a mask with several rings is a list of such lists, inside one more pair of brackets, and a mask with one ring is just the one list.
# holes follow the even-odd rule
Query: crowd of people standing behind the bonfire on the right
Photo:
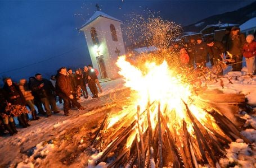
[[242, 57], [245, 57], [248, 74], [255, 74], [255, 55], [256, 41], [254, 35], [246, 36], [240, 32], [239, 27], [232, 27], [222, 41], [216, 41], [213, 38], [206, 39], [191, 38], [189, 43], [179, 45], [175, 43], [172, 51], [180, 54], [180, 62], [188, 67], [194, 67], [196, 64], [203, 64], [206, 67], [206, 62], [217, 65], [226, 56], [228, 64], [231, 64], [232, 71], [241, 71]]

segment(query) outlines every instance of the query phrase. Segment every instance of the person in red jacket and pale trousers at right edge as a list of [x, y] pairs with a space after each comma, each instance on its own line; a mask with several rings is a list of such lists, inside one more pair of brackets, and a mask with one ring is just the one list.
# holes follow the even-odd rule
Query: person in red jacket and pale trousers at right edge
[[254, 36], [249, 34], [246, 37], [246, 42], [242, 48], [242, 54], [246, 60], [246, 67], [248, 68], [248, 74], [255, 73], [255, 55], [256, 55], [256, 41]]

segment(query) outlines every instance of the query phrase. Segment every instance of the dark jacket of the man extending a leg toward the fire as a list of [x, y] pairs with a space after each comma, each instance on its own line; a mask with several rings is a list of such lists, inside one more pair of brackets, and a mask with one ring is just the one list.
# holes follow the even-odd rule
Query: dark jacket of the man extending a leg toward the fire
[[69, 77], [65, 76], [64, 74], [58, 74], [56, 76], [56, 92], [57, 95], [65, 95], [70, 96], [71, 95], [72, 87], [69, 81]]

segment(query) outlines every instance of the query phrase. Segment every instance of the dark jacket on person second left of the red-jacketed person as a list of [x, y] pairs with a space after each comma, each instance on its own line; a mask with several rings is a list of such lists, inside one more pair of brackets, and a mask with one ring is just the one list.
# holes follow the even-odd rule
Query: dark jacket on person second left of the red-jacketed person
[[221, 54], [225, 52], [224, 44], [219, 41], [214, 41], [213, 46], [208, 46], [208, 53], [210, 58], [222, 59]]

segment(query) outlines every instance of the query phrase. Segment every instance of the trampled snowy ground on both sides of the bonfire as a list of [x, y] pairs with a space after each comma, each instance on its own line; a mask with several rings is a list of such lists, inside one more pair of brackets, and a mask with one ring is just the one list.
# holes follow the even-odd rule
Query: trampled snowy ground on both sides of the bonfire
[[[241, 73], [245, 72], [226, 74], [225, 77], [229, 76], [233, 84], [223, 78], [223, 88], [220, 81], [208, 83], [207, 87], [224, 93], [245, 94], [249, 104], [256, 106], [256, 76], [232, 77]], [[92, 155], [88, 139], [93, 137], [106, 113], [111, 110], [114, 113], [121, 108], [119, 99], [129, 100], [130, 92], [123, 83], [121, 79], [101, 83], [104, 92], [99, 94], [100, 98], [80, 100], [86, 110], [71, 110], [71, 116], [60, 113], [51, 118], [41, 117], [30, 122], [29, 128], [19, 128], [15, 136], [0, 137], [0, 167], [87, 167], [88, 158]], [[62, 104], [59, 108], [62, 110]], [[246, 125], [250, 126], [242, 134], [253, 144], [242, 143], [241, 139], [232, 142], [227, 150], [228, 158], [220, 161], [222, 167], [256, 167], [256, 116], [244, 111], [240, 113], [247, 120]], [[236, 164], [232, 166], [232, 163]]]

